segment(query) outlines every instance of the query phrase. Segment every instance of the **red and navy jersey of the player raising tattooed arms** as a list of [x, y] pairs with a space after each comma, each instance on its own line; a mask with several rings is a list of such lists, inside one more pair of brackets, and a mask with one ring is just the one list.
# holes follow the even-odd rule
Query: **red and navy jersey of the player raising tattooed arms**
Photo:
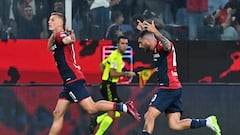
[[177, 61], [174, 45], [171, 50], [165, 51], [160, 41], [153, 52], [153, 62], [157, 68], [157, 77], [160, 88], [178, 89], [182, 85], [178, 79]]

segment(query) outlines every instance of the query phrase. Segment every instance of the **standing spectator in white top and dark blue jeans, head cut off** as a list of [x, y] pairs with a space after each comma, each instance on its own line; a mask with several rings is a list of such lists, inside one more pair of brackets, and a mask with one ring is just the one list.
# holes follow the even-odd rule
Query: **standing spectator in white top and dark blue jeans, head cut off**
[[108, 26], [110, 25], [110, 8], [119, 4], [120, 0], [94, 0], [90, 6], [93, 15], [93, 32], [99, 31], [97, 39], [104, 38]]

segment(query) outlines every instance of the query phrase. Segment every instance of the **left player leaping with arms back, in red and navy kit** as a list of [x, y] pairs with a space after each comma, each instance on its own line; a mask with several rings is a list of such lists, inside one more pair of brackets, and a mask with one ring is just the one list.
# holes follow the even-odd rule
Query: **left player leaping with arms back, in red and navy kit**
[[89, 96], [85, 84], [85, 77], [81, 67], [77, 65], [74, 51], [75, 36], [73, 31], [65, 31], [65, 15], [53, 12], [49, 18], [49, 30], [52, 35], [48, 41], [48, 49], [53, 52], [57, 69], [63, 80], [63, 90], [59, 94], [56, 108], [53, 112], [54, 121], [49, 135], [58, 135], [63, 126], [64, 114], [71, 103], [77, 103], [88, 113], [93, 114], [98, 111], [120, 111], [127, 112], [140, 120], [133, 102], [126, 104], [109, 101], [94, 102]]

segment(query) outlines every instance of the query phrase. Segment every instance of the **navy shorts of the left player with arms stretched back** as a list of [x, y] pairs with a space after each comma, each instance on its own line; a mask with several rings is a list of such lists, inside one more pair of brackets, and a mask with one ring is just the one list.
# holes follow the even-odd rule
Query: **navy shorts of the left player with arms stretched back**
[[65, 85], [59, 94], [59, 98], [67, 99], [71, 103], [78, 103], [81, 100], [88, 98], [89, 96], [90, 95], [88, 93], [84, 80], [78, 80], [76, 82]]

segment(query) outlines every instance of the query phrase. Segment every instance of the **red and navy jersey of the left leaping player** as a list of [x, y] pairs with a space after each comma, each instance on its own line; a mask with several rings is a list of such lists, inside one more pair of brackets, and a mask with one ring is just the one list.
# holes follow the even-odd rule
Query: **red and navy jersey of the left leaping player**
[[58, 32], [54, 42], [53, 56], [64, 84], [85, 80], [81, 67], [76, 63], [74, 44], [65, 45], [62, 40], [68, 33]]

